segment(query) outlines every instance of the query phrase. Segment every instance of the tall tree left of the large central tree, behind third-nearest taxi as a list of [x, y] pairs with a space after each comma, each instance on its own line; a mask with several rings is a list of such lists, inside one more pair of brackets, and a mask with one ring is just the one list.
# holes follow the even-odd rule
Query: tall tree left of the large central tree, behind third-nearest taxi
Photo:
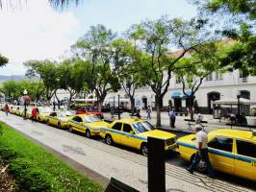
[[120, 87], [112, 65], [115, 36], [103, 25], [91, 26], [90, 31], [73, 46], [78, 61], [84, 65], [86, 82], [97, 97], [100, 111], [108, 91], [116, 91]]

